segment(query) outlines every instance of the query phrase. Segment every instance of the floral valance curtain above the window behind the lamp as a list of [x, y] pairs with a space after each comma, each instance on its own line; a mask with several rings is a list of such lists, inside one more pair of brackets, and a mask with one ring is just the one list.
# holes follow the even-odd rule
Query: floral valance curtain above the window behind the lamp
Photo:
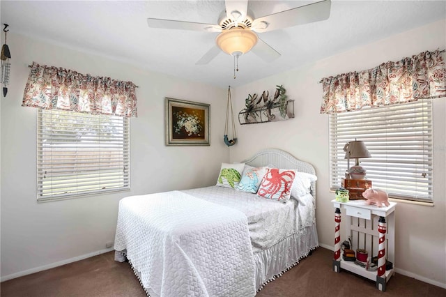
[[445, 50], [322, 79], [321, 114], [446, 96]]

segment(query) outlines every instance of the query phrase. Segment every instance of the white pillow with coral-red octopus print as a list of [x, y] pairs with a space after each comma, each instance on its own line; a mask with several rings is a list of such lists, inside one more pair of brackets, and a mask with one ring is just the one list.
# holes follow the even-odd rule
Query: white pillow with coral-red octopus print
[[293, 170], [267, 168], [257, 195], [277, 201], [289, 201], [294, 177], [295, 172]]

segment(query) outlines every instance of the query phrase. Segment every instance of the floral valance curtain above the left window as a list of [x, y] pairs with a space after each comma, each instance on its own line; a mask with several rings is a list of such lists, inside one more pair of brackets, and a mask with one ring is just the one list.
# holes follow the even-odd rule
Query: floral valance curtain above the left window
[[137, 116], [132, 82], [92, 77], [53, 66], [30, 66], [22, 106], [62, 109], [88, 114]]

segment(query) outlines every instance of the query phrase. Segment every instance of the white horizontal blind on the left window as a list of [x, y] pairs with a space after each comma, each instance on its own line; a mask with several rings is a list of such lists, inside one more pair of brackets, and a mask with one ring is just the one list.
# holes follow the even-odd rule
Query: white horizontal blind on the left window
[[129, 119], [38, 109], [38, 201], [130, 189]]

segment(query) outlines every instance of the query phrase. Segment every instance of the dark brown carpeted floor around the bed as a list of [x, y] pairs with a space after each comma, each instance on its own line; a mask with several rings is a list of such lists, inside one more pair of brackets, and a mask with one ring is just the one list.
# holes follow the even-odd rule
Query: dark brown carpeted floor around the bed
[[[128, 263], [114, 252], [1, 283], [1, 296], [146, 296]], [[394, 275], [385, 292], [353, 273], [332, 271], [332, 252], [316, 249], [256, 296], [446, 296], [446, 289]], [[180, 297], [180, 296], [178, 296]]]

